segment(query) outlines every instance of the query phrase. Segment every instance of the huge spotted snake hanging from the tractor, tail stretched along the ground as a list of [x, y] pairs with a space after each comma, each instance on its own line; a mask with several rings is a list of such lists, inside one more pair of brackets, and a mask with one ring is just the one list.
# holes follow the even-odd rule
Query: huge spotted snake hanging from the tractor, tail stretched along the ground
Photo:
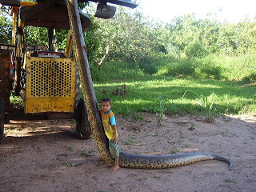
[[[98, 147], [98, 154], [106, 161], [108, 165], [114, 165], [114, 159], [110, 156], [108, 148], [108, 140], [104, 133], [101, 117], [98, 114], [97, 100], [94, 93], [94, 87], [90, 76], [90, 68], [86, 55], [86, 45], [84, 42], [81, 21], [78, 14], [77, 0], [66, 1], [70, 28], [74, 40], [74, 53], [76, 62], [78, 63], [78, 70], [80, 74], [80, 81], [83, 90], [83, 97], [86, 102], [87, 112], [93, 121], [90, 126], [93, 131], [94, 141]], [[119, 163], [122, 167], [143, 168], [143, 169], [158, 169], [168, 168], [174, 166], [184, 166], [194, 162], [201, 162], [204, 160], [219, 160], [230, 164], [230, 170], [233, 167], [233, 162], [227, 158], [215, 154], [206, 153], [189, 153], [189, 154], [172, 154], [172, 155], [137, 155], [120, 153]]]

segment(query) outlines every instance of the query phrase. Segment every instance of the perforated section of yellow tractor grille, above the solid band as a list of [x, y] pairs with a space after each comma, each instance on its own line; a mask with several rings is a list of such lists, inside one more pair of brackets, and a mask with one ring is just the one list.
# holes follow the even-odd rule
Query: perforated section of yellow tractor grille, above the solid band
[[[55, 61], [54, 61], [55, 60]], [[63, 59], [62, 59], [63, 60]], [[56, 59], [30, 62], [30, 95], [32, 97], [71, 97], [73, 62]]]

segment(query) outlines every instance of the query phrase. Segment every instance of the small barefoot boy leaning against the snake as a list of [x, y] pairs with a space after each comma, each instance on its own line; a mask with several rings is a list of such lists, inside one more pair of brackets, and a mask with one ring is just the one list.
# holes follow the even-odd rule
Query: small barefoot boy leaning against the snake
[[[109, 139], [109, 148], [111, 157], [114, 158], [114, 166], [110, 170], [119, 169], [119, 147], [118, 147], [118, 132], [114, 118], [114, 113], [111, 109], [110, 98], [102, 98], [101, 102], [102, 109], [99, 110], [102, 116], [102, 124], [105, 130], [106, 137]], [[88, 121], [91, 122], [92, 118], [88, 117]]]

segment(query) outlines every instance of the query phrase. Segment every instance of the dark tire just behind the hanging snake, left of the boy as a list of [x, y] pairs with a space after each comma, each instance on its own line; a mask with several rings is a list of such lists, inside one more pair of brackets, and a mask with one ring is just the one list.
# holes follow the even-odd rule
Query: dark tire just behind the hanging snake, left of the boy
[[86, 105], [82, 98], [79, 99], [78, 106], [75, 109], [76, 134], [80, 139], [89, 139], [91, 134], [90, 122]]

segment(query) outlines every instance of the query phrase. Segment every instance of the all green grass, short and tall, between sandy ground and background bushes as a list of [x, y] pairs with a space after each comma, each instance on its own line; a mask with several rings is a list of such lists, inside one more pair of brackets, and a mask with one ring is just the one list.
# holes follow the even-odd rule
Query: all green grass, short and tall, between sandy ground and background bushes
[[[112, 98], [115, 114], [130, 114], [134, 120], [143, 119], [138, 112], [159, 114], [161, 97], [162, 114], [205, 114], [210, 118], [215, 113], [256, 111], [254, 61], [254, 56], [209, 55], [162, 58], [154, 63], [154, 70], [150, 70], [152, 63], [140, 66], [129, 62], [106, 62], [100, 71], [95, 66], [90, 70], [98, 102]], [[123, 85], [126, 91], [122, 90]], [[10, 99], [14, 108], [22, 107], [17, 97]]]

